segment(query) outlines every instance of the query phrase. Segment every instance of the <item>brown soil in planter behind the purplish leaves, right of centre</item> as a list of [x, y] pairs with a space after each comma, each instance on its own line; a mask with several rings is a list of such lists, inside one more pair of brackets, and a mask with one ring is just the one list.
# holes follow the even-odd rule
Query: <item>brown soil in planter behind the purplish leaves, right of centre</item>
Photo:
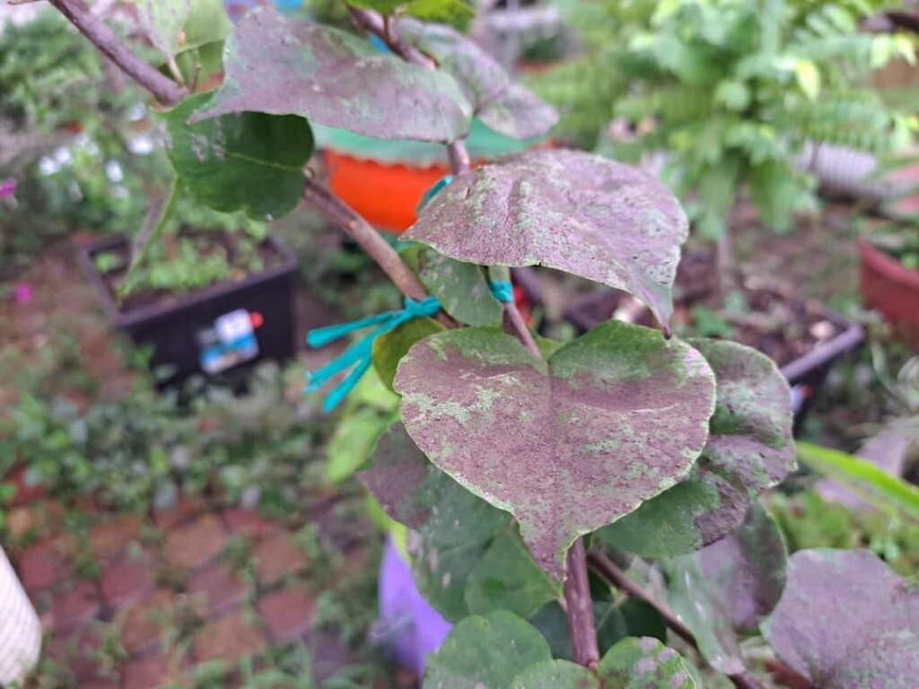
[[[785, 366], [844, 330], [831, 320], [819, 302], [797, 299], [789, 286], [777, 280], [739, 273], [734, 284], [743, 299], [729, 296], [725, 302], [720, 296], [719, 271], [713, 254], [698, 252], [684, 256], [674, 288], [674, 332], [729, 336]], [[735, 303], [732, 307], [732, 300], [739, 305]], [[617, 291], [580, 299], [572, 304], [571, 311], [578, 314], [578, 326], [593, 326], [614, 313], [620, 320], [655, 326], [650, 311]], [[703, 313], [715, 319], [714, 328], [710, 321], [709, 325], [703, 321]], [[705, 332], [707, 328], [709, 332]], [[730, 332], [719, 333], [722, 329]]]

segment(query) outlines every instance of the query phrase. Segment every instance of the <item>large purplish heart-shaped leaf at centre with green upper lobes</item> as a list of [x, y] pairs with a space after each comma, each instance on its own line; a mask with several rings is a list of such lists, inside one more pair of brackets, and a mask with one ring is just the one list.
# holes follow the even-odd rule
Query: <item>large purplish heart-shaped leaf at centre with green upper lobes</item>
[[395, 379], [415, 444], [513, 513], [556, 579], [576, 537], [686, 475], [708, 437], [714, 387], [697, 350], [621, 322], [548, 360], [494, 330], [438, 333], [409, 351]]

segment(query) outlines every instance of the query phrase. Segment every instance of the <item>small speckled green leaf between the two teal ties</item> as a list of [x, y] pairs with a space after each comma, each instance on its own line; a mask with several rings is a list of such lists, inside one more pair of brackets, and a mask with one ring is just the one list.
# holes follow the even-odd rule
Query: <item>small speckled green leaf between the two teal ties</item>
[[426, 248], [419, 253], [418, 264], [425, 288], [453, 318], [476, 327], [500, 327], [504, 309], [479, 265], [454, 261]]

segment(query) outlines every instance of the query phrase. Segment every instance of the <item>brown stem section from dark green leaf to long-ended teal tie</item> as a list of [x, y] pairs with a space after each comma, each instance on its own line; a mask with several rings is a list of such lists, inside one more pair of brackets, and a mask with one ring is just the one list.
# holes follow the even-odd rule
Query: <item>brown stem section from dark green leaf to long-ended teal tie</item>
[[[390, 277], [403, 295], [415, 301], [421, 301], [428, 296], [425, 286], [421, 284], [412, 269], [405, 265], [395, 249], [380, 236], [380, 232], [374, 230], [367, 220], [361, 218], [354, 209], [347, 206], [325, 186], [307, 177], [303, 199], [322, 213], [326, 220], [334, 222], [357, 242], [370, 258], [380, 265], [382, 271]], [[437, 313], [437, 320], [450, 328], [455, 328], [458, 324], [444, 311]]]

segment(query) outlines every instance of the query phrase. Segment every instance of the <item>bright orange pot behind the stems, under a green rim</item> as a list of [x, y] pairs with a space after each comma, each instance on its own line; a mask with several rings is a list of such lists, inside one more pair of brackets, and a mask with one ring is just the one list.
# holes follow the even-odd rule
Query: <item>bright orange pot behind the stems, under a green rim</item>
[[390, 232], [408, 230], [425, 191], [450, 174], [446, 165], [381, 164], [330, 150], [324, 155], [335, 194], [372, 224]]

